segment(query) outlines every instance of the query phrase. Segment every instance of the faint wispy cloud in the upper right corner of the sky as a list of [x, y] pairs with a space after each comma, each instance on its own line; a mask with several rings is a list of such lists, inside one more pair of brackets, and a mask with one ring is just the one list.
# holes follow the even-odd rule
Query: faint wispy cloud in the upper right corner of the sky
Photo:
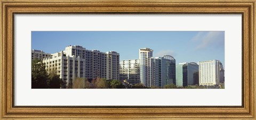
[[223, 31], [209, 31], [198, 32], [197, 35], [191, 39], [193, 42], [198, 42], [196, 50], [211, 46], [224, 46], [224, 32]]

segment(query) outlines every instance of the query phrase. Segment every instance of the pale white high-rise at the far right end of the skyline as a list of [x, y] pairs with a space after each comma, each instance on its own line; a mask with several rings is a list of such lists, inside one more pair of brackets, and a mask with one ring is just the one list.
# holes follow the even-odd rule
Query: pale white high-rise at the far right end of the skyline
[[219, 60], [199, 62], [199, 85], [219, 85], [223, 78], [224, 70]]

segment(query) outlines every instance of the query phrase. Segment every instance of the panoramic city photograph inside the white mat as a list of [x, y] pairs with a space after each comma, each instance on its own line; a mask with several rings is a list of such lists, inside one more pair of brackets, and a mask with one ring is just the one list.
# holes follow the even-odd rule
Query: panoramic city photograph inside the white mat
[[31, 89], [225, 89], [225, 31], [31, 31]]

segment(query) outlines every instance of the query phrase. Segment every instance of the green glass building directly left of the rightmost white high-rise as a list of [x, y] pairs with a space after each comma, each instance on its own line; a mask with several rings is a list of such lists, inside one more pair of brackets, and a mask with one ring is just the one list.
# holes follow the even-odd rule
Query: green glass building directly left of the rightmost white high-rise
[[198, 64], [194, 62], [176, 65], [176, 85], [180, 87], [199, 85], [198, 71]]

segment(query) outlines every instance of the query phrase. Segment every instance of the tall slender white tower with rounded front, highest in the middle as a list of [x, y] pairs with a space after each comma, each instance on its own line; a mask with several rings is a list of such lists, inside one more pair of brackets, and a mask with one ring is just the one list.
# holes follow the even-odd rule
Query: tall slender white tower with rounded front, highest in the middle
[[140, 59], [140, 81], [146, 87], [153, 85], [153, 50], [141, 48], [139, 50]]

